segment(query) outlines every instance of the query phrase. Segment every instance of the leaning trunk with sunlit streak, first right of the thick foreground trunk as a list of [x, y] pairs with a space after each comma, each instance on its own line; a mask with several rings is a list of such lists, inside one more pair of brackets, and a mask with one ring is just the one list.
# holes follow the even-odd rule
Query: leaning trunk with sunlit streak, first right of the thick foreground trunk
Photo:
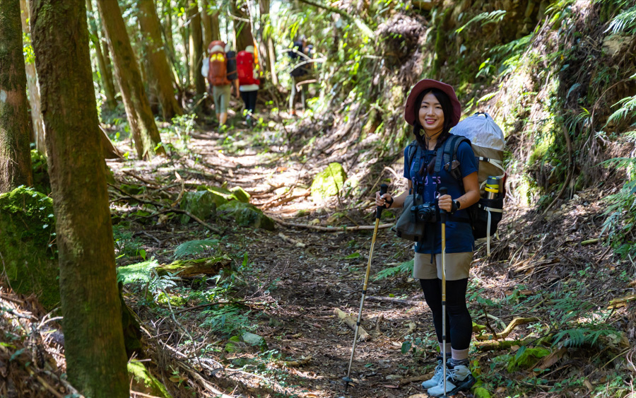
[[119, 90], [122, 90], [137, 156], [152, 158], [155, 154], [163, 155], [165, 154], [163, 146], [159, 146], [155, 151], [155, 147], [161, 141], [159, 130], [148, 104], [139, 66], [126, 33], [126, 25], [124, 25], [119, 5], [114, 0], [98, 0], [98, 8], [106, 30]]

